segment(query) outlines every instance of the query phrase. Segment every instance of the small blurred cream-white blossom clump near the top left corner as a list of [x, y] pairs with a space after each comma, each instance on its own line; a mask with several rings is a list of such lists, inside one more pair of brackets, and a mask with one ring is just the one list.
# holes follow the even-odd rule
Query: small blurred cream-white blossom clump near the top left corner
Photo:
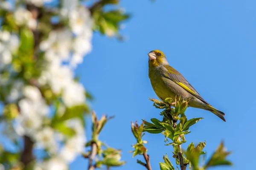
[[19, 7], [14, 13], [15, 23], [18, 26], [26, 25], [31, 29], [35, 29], [37, 26], [36, 20], [32, 17], [30, 11], [26, 10], [26, 8]]

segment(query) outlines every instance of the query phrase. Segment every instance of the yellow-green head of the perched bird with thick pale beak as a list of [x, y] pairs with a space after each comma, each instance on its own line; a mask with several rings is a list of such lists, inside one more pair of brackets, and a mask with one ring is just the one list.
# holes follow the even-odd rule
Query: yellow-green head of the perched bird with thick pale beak
[[149, 57], [149, 65], [152, 67], [157, 67], [160, 65], [169, 65], [167, 59], [162, 51], [160, 50], [153, 50], [148, 53]]

